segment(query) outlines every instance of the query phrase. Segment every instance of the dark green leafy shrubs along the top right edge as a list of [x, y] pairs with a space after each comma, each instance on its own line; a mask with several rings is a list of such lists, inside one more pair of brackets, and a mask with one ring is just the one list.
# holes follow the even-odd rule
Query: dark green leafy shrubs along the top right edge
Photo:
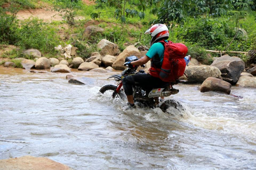
[[181, 22], [185, 17], [226, 15], [228, 10], [255, 10], [254, 0], [152, 0], [151, 12], [158, 16], [152, 23]]

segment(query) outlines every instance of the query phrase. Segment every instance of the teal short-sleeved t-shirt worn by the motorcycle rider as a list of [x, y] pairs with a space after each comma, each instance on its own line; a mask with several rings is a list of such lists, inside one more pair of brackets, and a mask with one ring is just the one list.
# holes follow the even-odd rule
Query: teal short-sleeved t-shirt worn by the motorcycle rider
[[[168, 42], [167, 40], [165, 40]], [[146, 53], [146, 56], [150, 57], [152, 59], [156, 54], [160, 57], [161, 64], [163, 63], [163, 53], [165, 52], [165, 47], [161, 43], [154, 43], [148, 52]]]

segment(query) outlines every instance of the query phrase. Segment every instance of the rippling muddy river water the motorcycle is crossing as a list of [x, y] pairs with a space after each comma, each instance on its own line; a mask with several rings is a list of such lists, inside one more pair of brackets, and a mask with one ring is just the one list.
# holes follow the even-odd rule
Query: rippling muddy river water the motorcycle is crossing
[[232, 87], [237, 99], [176, 85], [185, 110], [124, 111], [99, 96], [113, 72], [29, 73], [0, 67], [0, 159], [48, 157], [75, 170], [256, 169], [256, 90]]

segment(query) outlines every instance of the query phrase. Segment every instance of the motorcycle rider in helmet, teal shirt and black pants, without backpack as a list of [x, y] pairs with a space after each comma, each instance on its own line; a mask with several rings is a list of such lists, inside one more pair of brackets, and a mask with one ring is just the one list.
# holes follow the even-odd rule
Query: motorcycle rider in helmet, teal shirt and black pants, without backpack
[[[158, 41], [165, 40], [169, 38], [169, 30], [164, 24], [155, 24], [150, 29], [148, 29], [144, 34], [150, 34], [152, 39], [150, 41], [150, 49], [145, 56], [137, 61], [126, 62], [124, 65], [131, 67], [132, 65], [141, 66], [146, 64], [151, 60], [151, 69], [149, 74], [134, 74], [123, 78], [123, 87], [128, 100], [128, 107], [135, 107], [133, 102], [133, 89], [132, 86], [141, 86], [146, 88], [159, 88], [165, 86], [168, 83], [163, 82], [157, 77], [153, 77], [151, 73], [154, 71], [152, 68], [161, 68], [163, 62], [163, 54], [165, 51], [164, 45]], [[154, 74], [153, 74], [154, 75]]]

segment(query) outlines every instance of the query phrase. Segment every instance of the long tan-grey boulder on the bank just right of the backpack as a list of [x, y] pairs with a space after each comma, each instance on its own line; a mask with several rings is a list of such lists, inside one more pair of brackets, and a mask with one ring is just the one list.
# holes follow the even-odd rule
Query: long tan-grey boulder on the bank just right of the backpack
[[187, 83], [202, 83], [209, 77], [221, 78], [221, 71], [214, 66], [189, 66], [186, 67], [185, 74], [181, 80], [187, 80]]

